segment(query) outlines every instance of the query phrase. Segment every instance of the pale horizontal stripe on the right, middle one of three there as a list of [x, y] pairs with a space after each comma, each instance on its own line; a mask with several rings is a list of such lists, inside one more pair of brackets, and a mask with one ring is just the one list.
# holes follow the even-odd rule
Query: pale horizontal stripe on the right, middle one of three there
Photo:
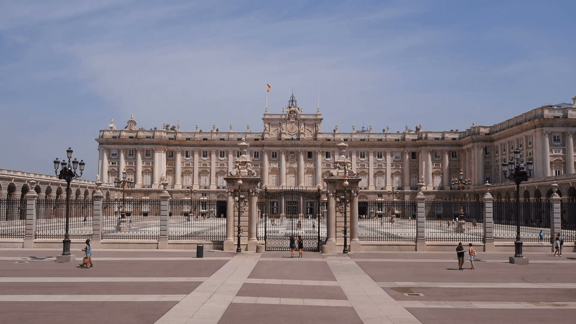
[[380, 287], [418, 288], [568, 288], [576, 289], [576, 284], [555, 284], [550, 282], [376, 282]]

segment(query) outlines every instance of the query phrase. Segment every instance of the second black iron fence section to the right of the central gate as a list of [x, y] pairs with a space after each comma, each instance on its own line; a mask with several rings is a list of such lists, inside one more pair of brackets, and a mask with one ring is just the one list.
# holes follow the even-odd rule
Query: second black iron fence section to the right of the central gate
[[428, 242], [483, 242], [483, 202], [427, 201], [425, 206]]

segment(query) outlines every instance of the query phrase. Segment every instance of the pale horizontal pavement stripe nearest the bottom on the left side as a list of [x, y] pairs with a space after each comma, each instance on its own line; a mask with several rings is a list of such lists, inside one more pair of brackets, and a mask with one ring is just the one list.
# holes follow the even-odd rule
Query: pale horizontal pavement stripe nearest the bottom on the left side
[[180, 302], [187, 295], [0, 295], [0, 302]]

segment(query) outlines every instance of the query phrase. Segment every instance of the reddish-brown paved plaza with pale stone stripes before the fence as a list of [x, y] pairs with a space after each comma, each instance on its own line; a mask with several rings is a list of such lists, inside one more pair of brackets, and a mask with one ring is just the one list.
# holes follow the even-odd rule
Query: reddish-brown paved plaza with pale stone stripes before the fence
[[[0, 250], [3, 323], [571, 323], [576, 253], [225, 253]], [[469, 263], [465, 265], [469, 268]]]

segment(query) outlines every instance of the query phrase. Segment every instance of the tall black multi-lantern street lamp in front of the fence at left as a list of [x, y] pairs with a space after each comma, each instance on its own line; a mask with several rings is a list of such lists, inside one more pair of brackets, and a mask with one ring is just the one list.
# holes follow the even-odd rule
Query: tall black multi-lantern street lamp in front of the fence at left
[[[74, 179], [80, 178], [82, 176], [82, 172], [84, 172], [84, 160], [72, 160], [72, 152], [71, 148], [66, 150], [66, 155], [68, 158], [68, 162], [66, 163], [66, 159], [63, 159], [62, 162], [56, 159], [54, 160], [54, 172], [58, 175], [58, 179], [66, 180], [66, 229], [64, 233], [64, 240], [62, 241], [62, 255], [70, 255], [70, 182]], [[60, 173], [58, 173], [58, 166], [61, 167]], [[76, 172], [79, 169], [80, 174]]]

